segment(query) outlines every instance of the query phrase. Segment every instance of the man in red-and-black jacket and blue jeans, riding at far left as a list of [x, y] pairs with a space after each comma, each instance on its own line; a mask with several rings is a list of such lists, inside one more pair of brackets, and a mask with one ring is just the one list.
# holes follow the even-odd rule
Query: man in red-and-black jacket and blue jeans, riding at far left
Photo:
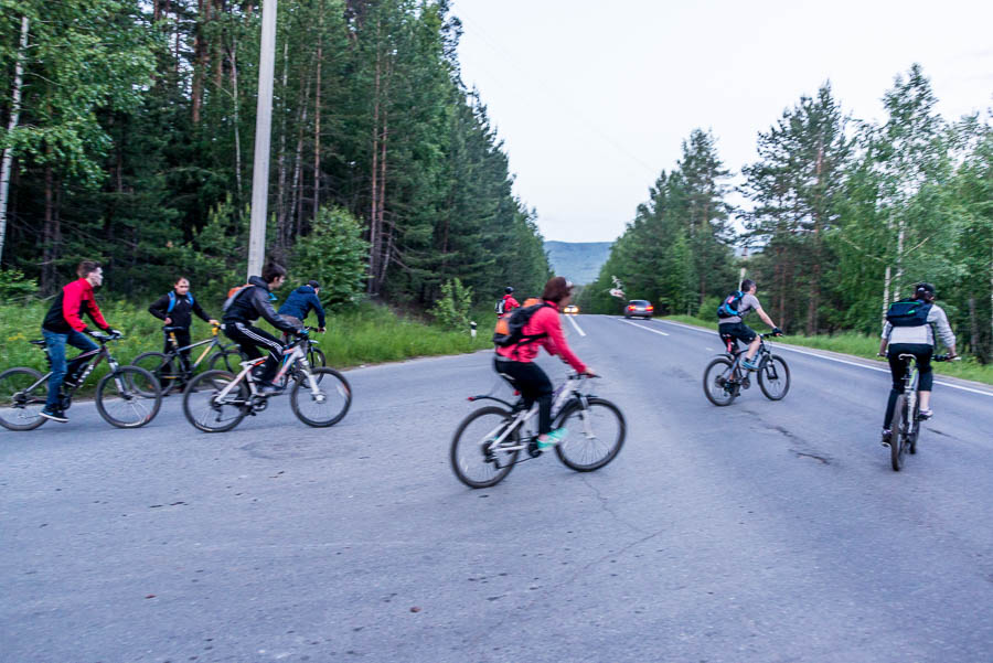
[[[65, 379], [67, 366], [65, 362], [65, 345], [78, 347], [83, 352], [96, 350], [98, 345], [86, 338], [90, 329], [83, 322], [83, 313], [86, 313], [93, 322], [110, 335], [120, 335], [116, 329], [110, 329], [100, 308], [96, 306], [93, 289], [104, 282], [104, 270], [99, 263], [83, 260], [76, 267], [78, 279], [66, 285], [52, 302], [45, 320], [42, 322], [42, 335], [49, 347], [49, 356], [52, 360], [52, 376], [49, 378], [49, 398], [45, 407], [40, 413], [46, 419], [65, 424], [68, 417], [62, 410], [62, 402], [58, 398], [58, 388]], [[75, 365], [73, 366], [75, 368]]]

